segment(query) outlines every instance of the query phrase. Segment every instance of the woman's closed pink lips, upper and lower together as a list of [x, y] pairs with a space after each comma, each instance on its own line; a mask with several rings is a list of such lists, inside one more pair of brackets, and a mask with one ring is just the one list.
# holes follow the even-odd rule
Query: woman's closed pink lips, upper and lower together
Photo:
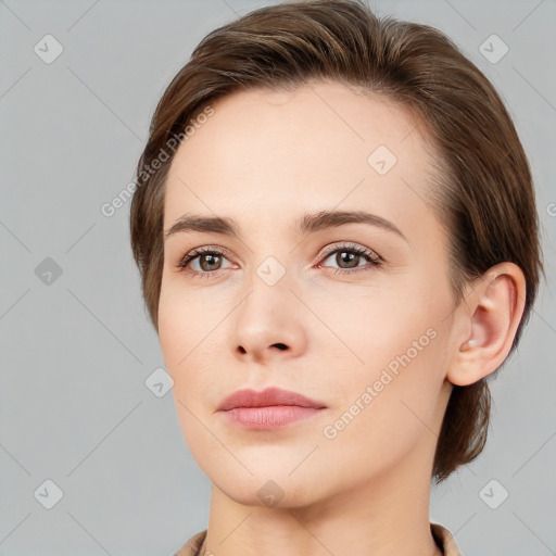
[[320, 402], [279, 388], [262, 392], [238, 390], [218, 406], [230, 422], [251, 430], [274, 430], [309, 418], [325, 408]]

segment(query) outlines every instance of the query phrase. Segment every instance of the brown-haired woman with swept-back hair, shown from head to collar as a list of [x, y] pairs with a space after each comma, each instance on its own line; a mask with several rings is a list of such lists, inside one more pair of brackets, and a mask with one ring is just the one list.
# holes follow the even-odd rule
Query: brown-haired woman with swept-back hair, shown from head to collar
[[498, 94], [437, 29], [267, 7], [164, 92], [130, 227], [185, 440], [177, 552], [458, 555], [431, 479], [476, 458], [542, 273]]

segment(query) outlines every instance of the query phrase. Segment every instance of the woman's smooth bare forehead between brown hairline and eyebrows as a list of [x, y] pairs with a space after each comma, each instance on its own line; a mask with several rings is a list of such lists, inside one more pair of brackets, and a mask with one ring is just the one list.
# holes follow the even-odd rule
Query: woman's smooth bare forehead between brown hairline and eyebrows
[[173, 159], [165, 228], [186, 211], [276, 222], [298, 207], [402, 219], [427, 211], [416, 205], [430, 154], [418, 122], [392, 101], [328, 81], [237, 91], [211, 105], [214, 114]]

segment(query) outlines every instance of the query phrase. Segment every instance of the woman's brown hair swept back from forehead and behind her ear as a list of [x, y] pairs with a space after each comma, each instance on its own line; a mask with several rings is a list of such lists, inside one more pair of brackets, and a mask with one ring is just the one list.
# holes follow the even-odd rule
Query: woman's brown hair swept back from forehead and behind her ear
[[[219, 97], [293, 90], [308, 79], [343, 83], [418, 118], [437, 168], [428, 200], [448, 238], [454, 303], [493, 265], [511, 262], [525, 274], [526, 304], [511, 354], [544, 274], [532, 176], [513, 121], [489, 79], [448, 37], [428, 25], [379, 17], [364, 0], [286, 1], [252, 11], [206, 35], [167, 86], [137, 164], [129, 215], [156, 331], [164, 191], [176, 138], [178, 146], [187, 140]], [[484, 447], [491, 408], [485, 378], [453, 387], [434, 454], [437, 483]]]

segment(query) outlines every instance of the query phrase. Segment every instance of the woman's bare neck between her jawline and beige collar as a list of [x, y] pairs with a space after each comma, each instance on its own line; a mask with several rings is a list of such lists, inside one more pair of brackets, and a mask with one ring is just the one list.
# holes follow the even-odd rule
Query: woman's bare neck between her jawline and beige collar
[[430, 445], [416, 446], [397, 468], [371, 481], [351, 482], [311, 504], [300, 503], [309, 493], [299, 485], [291, 489], [296, 497], [285, 496], [274, 507], [256, 497], [240, 504], [213, 485], [207, 554], [441, 556], [429, 522], [431, 462], [424, 465], [422, 450]]

